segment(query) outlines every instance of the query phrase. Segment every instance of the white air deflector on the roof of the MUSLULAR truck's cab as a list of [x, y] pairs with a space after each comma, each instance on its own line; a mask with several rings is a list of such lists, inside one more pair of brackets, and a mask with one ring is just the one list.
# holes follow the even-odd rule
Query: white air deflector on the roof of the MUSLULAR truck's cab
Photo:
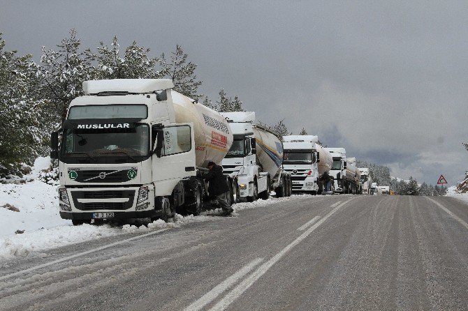
[[83, 82], [86, 95], [101, 92], [152, 93], [173, 87], [171, 79], [109, 79]]

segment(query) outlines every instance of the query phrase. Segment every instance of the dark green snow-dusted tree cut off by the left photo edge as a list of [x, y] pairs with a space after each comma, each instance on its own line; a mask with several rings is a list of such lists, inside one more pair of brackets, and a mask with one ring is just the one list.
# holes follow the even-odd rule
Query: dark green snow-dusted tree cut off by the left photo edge
[[45, 140], [36, 65], [31, 55], [4, 47], [0, 33], [0, 177], [21, 175], [21, 164], [31, 165]]

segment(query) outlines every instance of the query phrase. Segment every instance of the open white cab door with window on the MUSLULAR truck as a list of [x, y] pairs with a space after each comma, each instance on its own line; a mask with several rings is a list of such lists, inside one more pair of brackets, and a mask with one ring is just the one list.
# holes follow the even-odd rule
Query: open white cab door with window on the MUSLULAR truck
[[152, 176], [156, 196], [170, 195], [177, 183], [196, 175], [193, 123], [179, 123], [152, 131]]

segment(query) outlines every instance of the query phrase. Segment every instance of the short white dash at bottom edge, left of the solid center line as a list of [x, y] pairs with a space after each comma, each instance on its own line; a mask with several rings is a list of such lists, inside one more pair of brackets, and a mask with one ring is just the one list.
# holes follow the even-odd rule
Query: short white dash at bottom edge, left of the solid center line
[[200, 310], [201, 308], [205, 307], [208, 303], [211, 303], [216, 299], [219, 295], [223, 294], [226, 289], [233, 286], [237, 283], [241, 278], [244, 277], [247, 273], [249, 273], [253, 268], [255, 268], [258, 264], [263, 261], [263, 258], [257, 258], [251, 261], [249, 264], [245, 265], [244, 267], [240, 268], [236, 273], [231, 275], [229, 278], [224, 280], [223, 282], [219, 283], [219, 285], [215, 286], [211, 291], [208, 291], [205, 295], [203, 295], [198, 301], [195, 301], [187, 308], [185, 311], [196, 311]]

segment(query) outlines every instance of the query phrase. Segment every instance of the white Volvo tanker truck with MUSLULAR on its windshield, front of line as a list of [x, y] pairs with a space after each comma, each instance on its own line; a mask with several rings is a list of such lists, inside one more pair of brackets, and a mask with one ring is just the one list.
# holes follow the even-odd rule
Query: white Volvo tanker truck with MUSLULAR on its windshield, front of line
[[221, 163], [233, 135], [221, 114], [173, 86], [170, 79], [83, 82], [61, 144], [58, 132], [51, 135], [61, 218], [80, 225], [200, 213], [207, 163]]

